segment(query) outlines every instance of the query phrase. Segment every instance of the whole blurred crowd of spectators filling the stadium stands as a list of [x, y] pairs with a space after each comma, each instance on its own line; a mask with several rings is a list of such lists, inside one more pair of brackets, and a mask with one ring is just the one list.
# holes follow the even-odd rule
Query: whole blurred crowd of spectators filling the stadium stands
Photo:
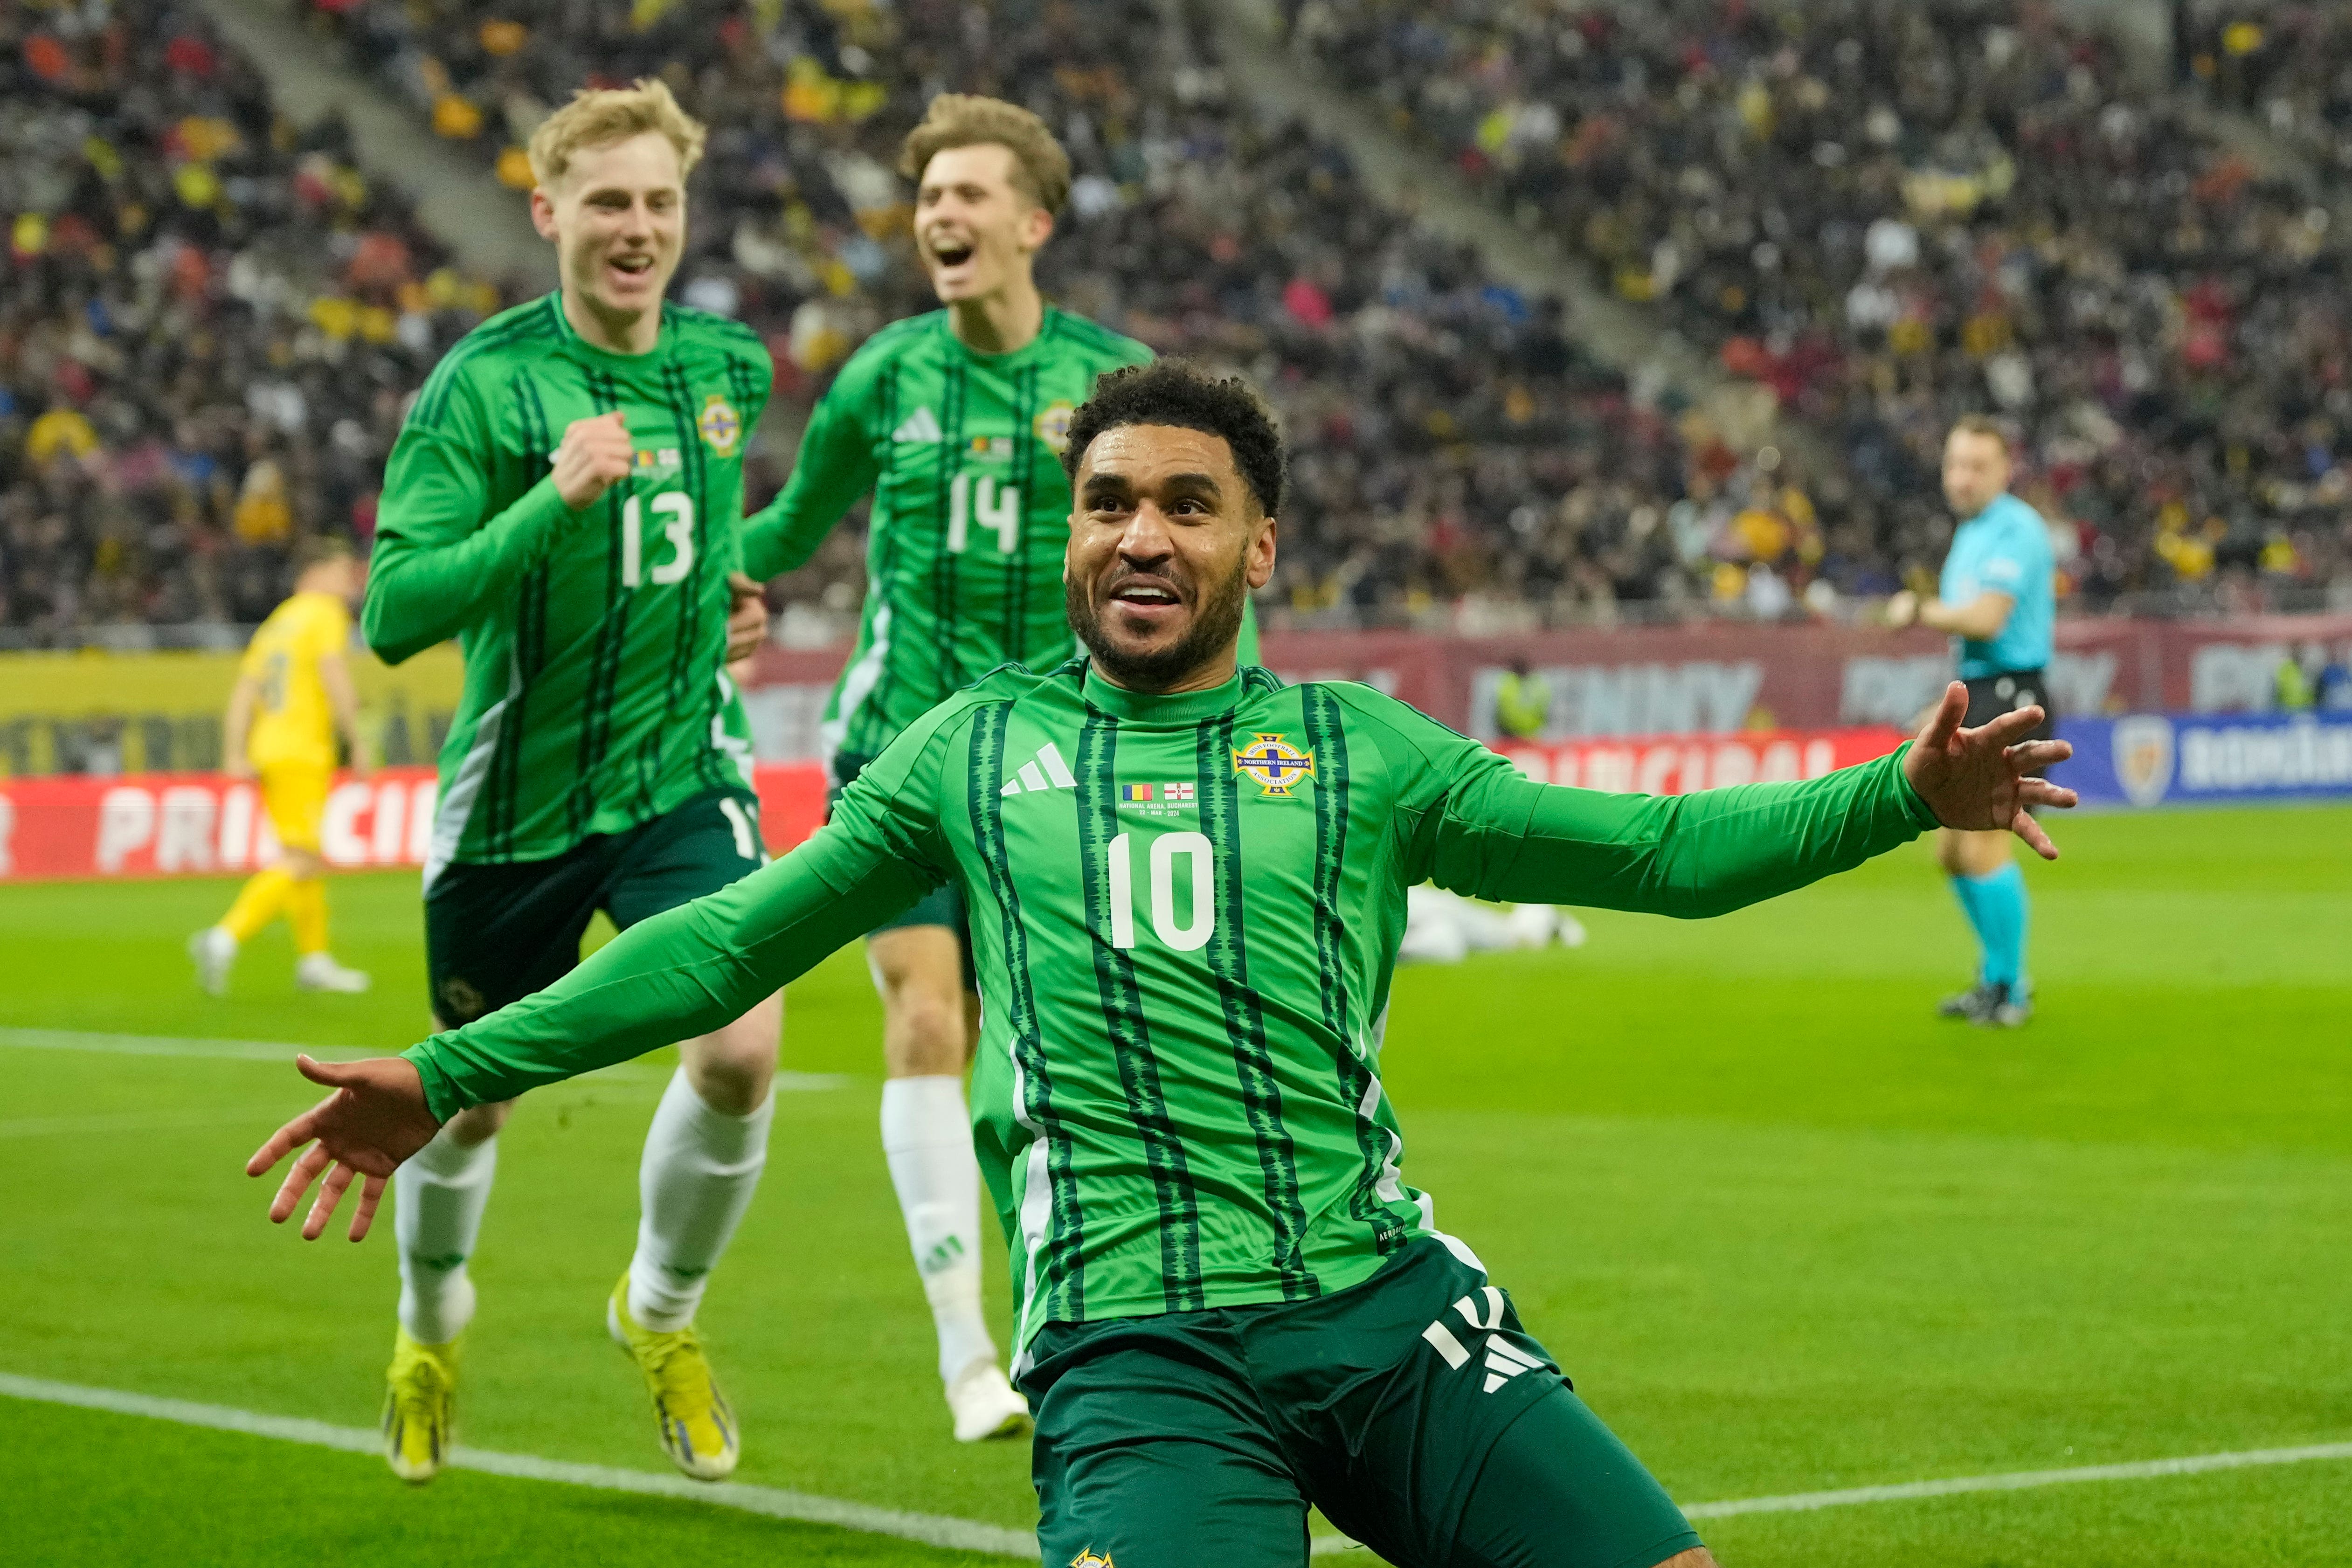
[[[1886, 592], [1940, 557], [1936, 447], [1983, 404], [2023, 428], [2082, 602], [2347, 571], [2352, 235], [2032, 5], [1291, 7], [1298, 49], [1830, 435], [1813, 475], [1635, 395], [1557, 301], [1240, 101], [1155, 2], [299, 5], [517, 200], [576, 85], [663, 75], [710, 120], [677, 294], [774, 350], [755, 498], [856, 343], [929, 308], [896, 143], [967, 89], [1070, 146], [1056, 299], [1275, 393], [1275, 621]], [[2234, 82], [2253, 56], [2213, 38]], [[501, 301], [198, 14], [0, 0], [0, 639], [249, 623], [294, 538], [365, 543], [405, 397]], [[781, 588], [786, 625], [830, 637], [861, 588], [844, 529]]]

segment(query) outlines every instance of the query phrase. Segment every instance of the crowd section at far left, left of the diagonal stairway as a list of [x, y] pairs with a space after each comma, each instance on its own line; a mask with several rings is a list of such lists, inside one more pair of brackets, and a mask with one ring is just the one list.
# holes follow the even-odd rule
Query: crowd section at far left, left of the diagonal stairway
[[0, 2], [0, 642], [254, 623], [496, 296], [172, 0]]

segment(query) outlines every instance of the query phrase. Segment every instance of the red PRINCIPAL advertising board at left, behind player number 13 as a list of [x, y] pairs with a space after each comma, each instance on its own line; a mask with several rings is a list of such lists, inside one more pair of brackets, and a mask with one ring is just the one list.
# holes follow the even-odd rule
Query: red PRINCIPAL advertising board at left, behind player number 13
[[[760, 830], [771, 851], [826, 813], [814, 762], [760, 764]], [[433, 769], [343, 778], [327, 797], [320, 849], [332, 865], [423, 865], [433, 844]], [[0, 879], [179, 877], [268, 865], [278, 835], [252, 780], [221, 773], [0, 780]]]

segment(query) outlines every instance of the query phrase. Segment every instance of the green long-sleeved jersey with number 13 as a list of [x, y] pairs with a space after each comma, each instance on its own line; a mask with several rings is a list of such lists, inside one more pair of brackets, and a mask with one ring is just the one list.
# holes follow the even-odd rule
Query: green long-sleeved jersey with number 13
[[[426, 378], [383, 477], [362, 628], [390, 663], [447, 637], [466, 651], [428, 886], [449, 860], [543, 860], [750, 785], [727, 574], [769, 381], [739, 322], [663, 306], [652, 353], [619, 355], [583, 343], [557, 294], [482, 322]], [[574, 512], [550, 454], [616, 409], [637, 465]]]

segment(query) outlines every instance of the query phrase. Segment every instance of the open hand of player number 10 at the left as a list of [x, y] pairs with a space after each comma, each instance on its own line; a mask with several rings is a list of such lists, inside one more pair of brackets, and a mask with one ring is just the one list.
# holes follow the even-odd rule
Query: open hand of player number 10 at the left
[[374, 1056], [365, 1063], [318, 1063], [296, 1056], [294, 1065], [306, 1079], [327, 1084], [334, 1093], [270, 1133], [270, 1140], [245, 1161], [245, 1173], [261, 1175], [308, 1143], [310, 1147], [294, 1161], [278, 1197], [270, 1199], [270, 1225], [285, 1225], [303, 1192], [325, 1171], [327, 1180], [320, 1182], [318, 1201], [310, 1204], [310, 1213], [301, 1222], [301, 1239], [318, 1241], [327, 1220], [334, 1218], [336, 1204], [343, 1201], [343, 1190], [358, 1175], [365, 1180], [360, 1182], [360, 1208], [350, 1215], [350, 1239], [360, 1241], [376, 1218], [376, 1204], [383, 1201], [383, 1178], [402, 1159], [433, 1143], [440, 1121], [426, 1110], [426, 1086], [416, 1077], [416, 1067], [397, 1056]]

